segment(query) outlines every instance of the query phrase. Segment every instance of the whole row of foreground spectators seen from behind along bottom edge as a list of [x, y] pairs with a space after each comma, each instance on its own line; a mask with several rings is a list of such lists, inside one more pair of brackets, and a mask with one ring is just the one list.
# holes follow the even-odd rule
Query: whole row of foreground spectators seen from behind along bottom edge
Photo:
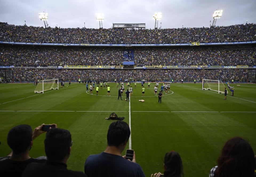
[[[135, 151], [122, 152], [128, 143], [131, 131], [129, 125], [123, 121], [112, 122], [107, 132], [107, 147], [100, 154], [85, 158], [84, 173], [67, 169], [67, 161], [71, 156], [73, 144], [68, 130], [50, 124], [46, 129], [42, 124], [35, 128], [29, 125], [18, 125], [9, 131], [7, 143], [11, 153], [0, 157], [0, 173], [3, 176], [22, 177], [144, 177], [141, 166], [136, 163]], [[45, 154], [39, 158], [30, 157], [33, 140], [46, 133], [44, 140]], [[229, 139], [217, 160], [217, 166], [209, 170], [209, 177], [255, 177], [255, 155], [251, 145], [243, 138]], [[151, 177], [181, 177], [183, 173], [182, 158], [178, 152], [170, 151], [164, 157], [164, 172], [156, 172]]]

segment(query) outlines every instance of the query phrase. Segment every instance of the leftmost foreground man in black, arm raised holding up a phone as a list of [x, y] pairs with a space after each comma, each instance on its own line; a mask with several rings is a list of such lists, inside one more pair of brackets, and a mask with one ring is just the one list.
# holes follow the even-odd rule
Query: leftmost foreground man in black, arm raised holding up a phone
[[[29, 151], [33, 146], [33, 140], [44, 133], [42, 124], [35, 128], [29, 125], [19, 125], [11, 128], [7, 136], [7, 143], [12, 152], [0, 161], [0, 173], [2, 176], [21, 176], [26, 166], [32, 162], [43, 163], [46, 157], [31, 158]], [[54, 124], [56, 125], [56, 124]], [[57, 125], [56, 125], [57, 126]]]

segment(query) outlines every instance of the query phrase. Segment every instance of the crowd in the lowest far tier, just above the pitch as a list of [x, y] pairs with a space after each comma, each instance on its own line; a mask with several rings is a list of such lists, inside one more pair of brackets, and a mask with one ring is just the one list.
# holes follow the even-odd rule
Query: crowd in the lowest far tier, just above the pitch
[[[5, 72], [6, 71], [6, 72]], [[84, 81], [171, 81], [192, 82], [196, 79], [221, 80], [235, 82], [250, 82], [248, 72], [254, 69], [137, 69], [137, 70], [100, 70], [100, 69], [0, 69], [0, 76], [7, 75], [7, 81], [13, 82], [34, 82], [35, 80], [60, 79], [61, 81], [77, 82], [78, 78]]]

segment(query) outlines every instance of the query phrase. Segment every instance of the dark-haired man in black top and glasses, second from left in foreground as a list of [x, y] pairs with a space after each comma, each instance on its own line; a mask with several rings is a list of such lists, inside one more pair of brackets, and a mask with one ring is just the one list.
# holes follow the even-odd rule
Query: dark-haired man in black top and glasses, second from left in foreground
[[46, 133], [46, 163], [31, 163], [24, 170], [22, 177], [86, 176], [83, 172], [67, 169], [67, 160], [71, 152], [72, 140], [69, 131], [53, 128]]

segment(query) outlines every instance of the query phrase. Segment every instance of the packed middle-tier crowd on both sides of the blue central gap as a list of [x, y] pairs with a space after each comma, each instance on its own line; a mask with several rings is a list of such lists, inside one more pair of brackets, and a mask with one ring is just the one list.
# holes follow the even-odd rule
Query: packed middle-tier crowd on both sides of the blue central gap
[[[134, 62], [144, 65], [256, 65], [255, 46], [141, 47]], [[0, 45], [0, 66], [122, 65], [123, 48]]]

